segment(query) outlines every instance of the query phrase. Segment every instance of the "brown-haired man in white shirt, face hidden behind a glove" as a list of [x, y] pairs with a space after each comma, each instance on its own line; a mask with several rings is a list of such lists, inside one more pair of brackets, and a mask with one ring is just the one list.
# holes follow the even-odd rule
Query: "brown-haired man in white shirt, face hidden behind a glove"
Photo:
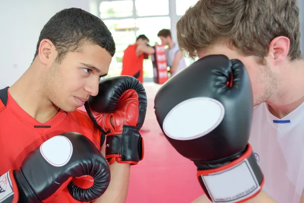
[[[248, 202], [304, 202], [304, 62], [296, 0], [200, 0], [177, 22], [184, 54], [241, 60], [254, 110], [249, 143], [264, 174]], [[202, 195], [195, 202], [210, 202]]]

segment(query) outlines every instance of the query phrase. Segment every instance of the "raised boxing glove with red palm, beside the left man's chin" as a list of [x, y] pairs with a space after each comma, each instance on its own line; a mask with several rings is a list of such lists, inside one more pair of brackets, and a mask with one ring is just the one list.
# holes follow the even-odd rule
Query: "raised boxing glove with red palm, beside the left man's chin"
[[130, 76], [107, 78], [99, 82], [97, 96], [91, 96], [86, 110], [101, 130], [101, 145], [106, 134], [105, 158], [111, 164], [137, 164], [144, 155], [139, 130], [143, 125], [147, 99], [143, 85]]

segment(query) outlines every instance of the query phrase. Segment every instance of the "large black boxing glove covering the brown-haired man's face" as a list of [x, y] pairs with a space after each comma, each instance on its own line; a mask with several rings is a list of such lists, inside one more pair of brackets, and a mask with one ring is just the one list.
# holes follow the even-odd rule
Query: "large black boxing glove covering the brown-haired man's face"
[[194, 161], [213, 202], [245, 201], [263, 185], [248, 144], [252, 109], [244, 65], [224, 55], [199, 59], [157, 92], [155, 113], [166, 138]]

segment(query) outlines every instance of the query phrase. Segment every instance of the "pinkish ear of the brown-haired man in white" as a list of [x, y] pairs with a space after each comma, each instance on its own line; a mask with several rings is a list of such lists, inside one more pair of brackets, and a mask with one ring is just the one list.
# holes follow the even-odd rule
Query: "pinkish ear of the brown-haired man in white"
[[290, 40], [287, 37], [280, 36], [273, 39], [269, 45], [269, 56], [274, 61], [274, 64], [279, 64], [288, 55]]

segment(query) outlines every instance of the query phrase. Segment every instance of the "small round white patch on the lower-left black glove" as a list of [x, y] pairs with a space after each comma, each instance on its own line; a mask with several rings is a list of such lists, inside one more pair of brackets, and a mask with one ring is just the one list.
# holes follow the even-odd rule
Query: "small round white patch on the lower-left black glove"
[[73, 153], [73, 146], [64, 136], [55, 136], [40, 146], [42, 156], [53, 166], [67, 164]]

